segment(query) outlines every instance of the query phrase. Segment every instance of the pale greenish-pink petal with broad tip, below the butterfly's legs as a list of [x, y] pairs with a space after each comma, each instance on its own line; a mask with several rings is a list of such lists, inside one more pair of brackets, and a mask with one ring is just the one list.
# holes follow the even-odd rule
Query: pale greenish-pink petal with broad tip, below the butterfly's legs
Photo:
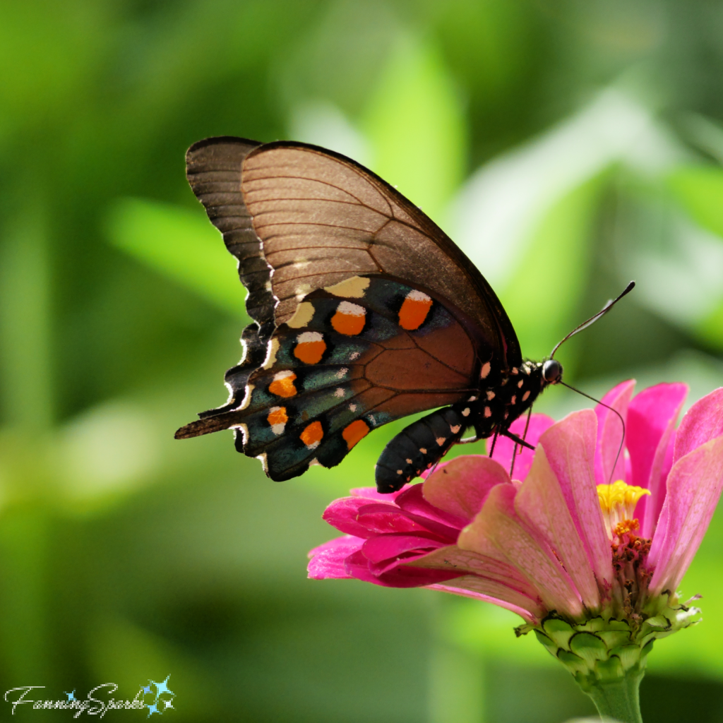
[[484, 554], [489, 544], [494, 545], [535, 586], [547, 609], [581, 615], [583, 605], [573, 581], [515, 513], [515, 494], [511, 484], [494, 487], [482, 511], [461, 532], [458, 547]]

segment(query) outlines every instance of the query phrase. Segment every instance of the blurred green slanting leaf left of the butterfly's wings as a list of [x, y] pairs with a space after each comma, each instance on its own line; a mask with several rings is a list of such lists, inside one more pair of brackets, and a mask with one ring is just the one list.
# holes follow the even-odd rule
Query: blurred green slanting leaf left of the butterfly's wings
[[216, 307], [246, 316], [236, 260], [205, 215], [157, 201], [125, 198], [111, 208], [107, 229], [117, 248]]

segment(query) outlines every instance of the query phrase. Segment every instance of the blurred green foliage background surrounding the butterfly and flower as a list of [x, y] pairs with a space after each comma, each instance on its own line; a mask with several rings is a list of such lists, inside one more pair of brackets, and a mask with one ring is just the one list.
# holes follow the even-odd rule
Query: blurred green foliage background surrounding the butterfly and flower
[[[225, 401], [246, 323], [184, 153], [234, 134], [367, 164], [534, 358], [635, 278], [560, 352], [568, 380], [684, 380], [692, 402], [723, 384], [723, 5], [6, 1], [0, 67], [0, 692], [170, 674], [184, 722], [591, 712], [507, 612], [307, 580], [322, 510], [399, 424], [283, 484], [229, 433], [174, 441]], [[563, 391], [539, 410], [585, 406]], [[683, 589], [705, 621], [656, 643], [643, 715], [723, 722], [722, 515]], [[69, 717], [17, 713], [37, 716]]]

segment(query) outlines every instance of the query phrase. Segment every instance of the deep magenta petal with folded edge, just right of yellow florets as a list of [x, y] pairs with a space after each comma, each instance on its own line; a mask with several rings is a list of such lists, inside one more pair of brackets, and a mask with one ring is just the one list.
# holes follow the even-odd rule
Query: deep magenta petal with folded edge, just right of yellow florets
[[665, 454], [675, 433], [688, 385], [658, 384], [643, 389], [628, 406], [625, 441], [633, 484], [650, 490], [638, 503], [641, 534], [651, 539], [665, 498]]

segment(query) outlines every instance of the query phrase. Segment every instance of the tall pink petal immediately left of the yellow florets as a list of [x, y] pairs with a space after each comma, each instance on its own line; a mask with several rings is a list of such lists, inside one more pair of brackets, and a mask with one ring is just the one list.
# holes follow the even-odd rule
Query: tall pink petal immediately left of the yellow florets
[[612, 558], [594, 475], [597, 418], [591, 409], [568, 414], [540, 437], [599, 583], [612, 583]]

